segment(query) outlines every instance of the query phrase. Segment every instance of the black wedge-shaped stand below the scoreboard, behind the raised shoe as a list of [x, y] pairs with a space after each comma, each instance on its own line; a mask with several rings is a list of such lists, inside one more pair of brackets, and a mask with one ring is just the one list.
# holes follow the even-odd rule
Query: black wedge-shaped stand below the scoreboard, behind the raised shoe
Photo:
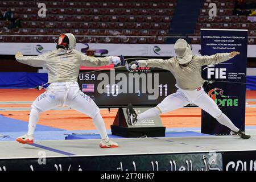
[[[137, 114], [149, 109], [148, 107], [135, 107]], [[135, 137], [165, 137], [166, 127], [163, 127], [160, 117], [145, 119], [130, 126], [127, 123], [126, 108], [119, 108], [113, 125], [111, 125], [112, 135], [126, 138]]]

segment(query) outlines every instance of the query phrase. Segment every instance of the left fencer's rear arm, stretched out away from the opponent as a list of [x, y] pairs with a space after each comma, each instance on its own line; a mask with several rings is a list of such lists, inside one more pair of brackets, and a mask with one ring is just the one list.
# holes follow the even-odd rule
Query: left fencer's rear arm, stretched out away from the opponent
[[38, 56], [23, 56], [21, 52], [17, 52], [15, 59], [19, 63], [27, 64], [31, 67], [44, 67], [46, 65], [46, 53]]

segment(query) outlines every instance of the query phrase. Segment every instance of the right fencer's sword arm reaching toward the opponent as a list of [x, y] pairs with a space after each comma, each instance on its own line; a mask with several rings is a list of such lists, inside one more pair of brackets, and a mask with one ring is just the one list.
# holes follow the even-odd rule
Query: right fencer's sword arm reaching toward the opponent
[[[170, 69], [172, 67], [172, 59], [148, 59], [148, 60], [138, 60], [139, 67], [150, 67], [150, 68], [162, 68]], [[133, 62], [131, 62], [133, 64]]]

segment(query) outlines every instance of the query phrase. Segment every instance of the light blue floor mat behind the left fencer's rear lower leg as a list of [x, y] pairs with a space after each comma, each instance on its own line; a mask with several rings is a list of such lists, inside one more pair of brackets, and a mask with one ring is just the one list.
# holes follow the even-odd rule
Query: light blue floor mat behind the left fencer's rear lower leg
[[[27, 132], [28, 123], [18, 119], [12, 119], [0, 115], [0, 133], [6, 132]], [[55, 127], [36, 125], [35, 131], [64, 131]]]

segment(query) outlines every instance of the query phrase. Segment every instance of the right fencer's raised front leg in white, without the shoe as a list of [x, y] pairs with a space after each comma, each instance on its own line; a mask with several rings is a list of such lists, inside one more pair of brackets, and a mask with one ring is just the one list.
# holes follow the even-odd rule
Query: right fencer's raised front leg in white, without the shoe
[[189, 101], [183, 94], [178, 90], [166, 98], [156, 107], [144, 111], [142, 114], [138, 114], [138, 121], [143, 119], [150, 119], [158, 116], [160, 113], [167, 113], [169, 111], [179, 109], [180, 107], [186, 106]]

